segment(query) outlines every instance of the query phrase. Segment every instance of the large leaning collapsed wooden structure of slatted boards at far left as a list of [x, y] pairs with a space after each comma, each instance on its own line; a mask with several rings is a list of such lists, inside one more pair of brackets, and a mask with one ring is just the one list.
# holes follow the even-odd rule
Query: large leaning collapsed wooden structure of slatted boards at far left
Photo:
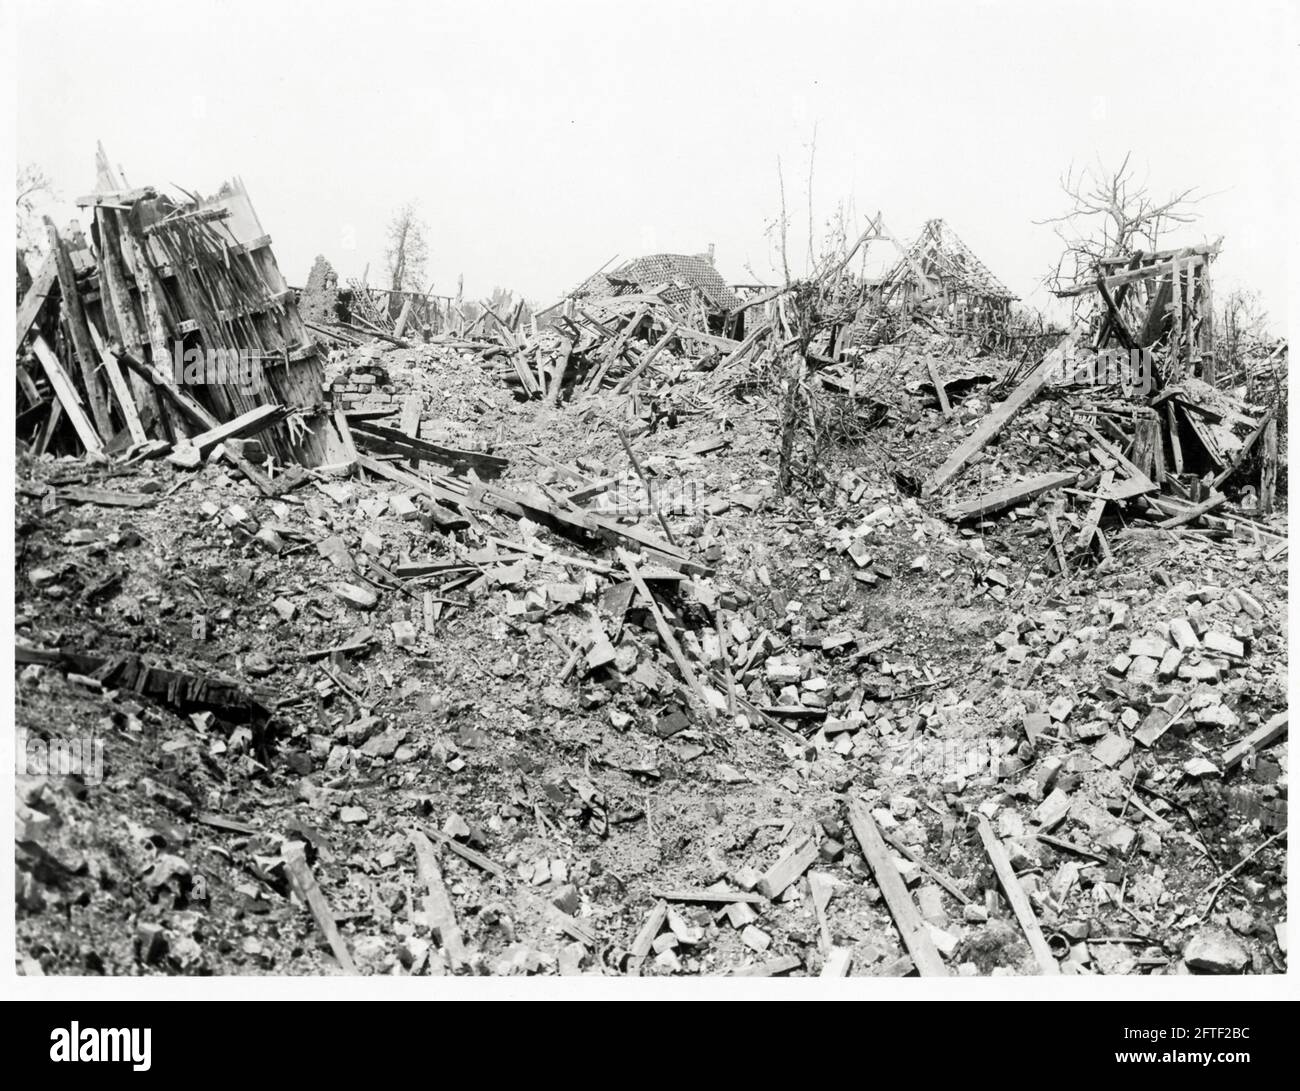
[[[103, 148], [98, 176], [78, 200], [90, 238], [47, 220], [18, 308], [20, 438], [126, 455], [256, 432], [281, 464], [350, 468], [347, 424], [243, 185], [177, 202], [127, 189]], [[237, 445], [226, 455], [266, 482]]]

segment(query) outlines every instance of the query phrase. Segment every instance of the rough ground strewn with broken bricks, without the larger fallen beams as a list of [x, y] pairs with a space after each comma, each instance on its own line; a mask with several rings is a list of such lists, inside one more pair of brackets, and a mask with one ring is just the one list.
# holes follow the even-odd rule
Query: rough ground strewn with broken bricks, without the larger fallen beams
[[[637, 433], [647, 410], [615, 395], [521, 402], [469, 358], [434, 348], [382, 359], [425, 371], [448, 440], [507, 456], [503, 484], [519, 490], [541, 482], [562, 495], [576, 486], [568, 471], [621, 473], [615, 429]], [[677, 715], [681, 685], [636, 599], [614, 661], [562, 677], [593, 618], [618, 631], [620, 572], [604, 546], [503, 515], [446, 536], [385, 481], [322, 480], [266, 501], [220, 463], [109, 476], [69, 459], [21, 462], [21, 646], [138, 654], [228, 676], [276, 705], [264, 731], [53, 667], [18, 668], [29, 737], [94, 736], [105, 758], [101, 782], [18, 779], [21, 969], [338, 973], [286, 875], [282, 845], [299, 841], [363, 973], [818, 974], [833, 948], [854, 974], [906, 974], [848, 826], [848, 802], [862, 800], [923, 862], [896, 857], [953, 973], [1039, 969], [978, 814], [1066, 973], [1284, 970], [1286, 841], [1274, 836], [1286, 826], [1287, 744], [1234, 770], [1222, 756], [1286, 709], [1286, 558], [1135, 528], [1112, 533], [1110, 562], [1076, 559], [1063, 579], [1046, 502], [958, 529], [910, 482], [987, 411], [985, 390], [971, 385], [945, 420], [932, 393], [900, 382], [885, 421], [861, 446], [829, 450], [826, 485], [800, 501], [775, 495], [776, 410], [760, 397], [680, 398], [634, 434], [646, 472], [699, 490], [702, 510], [668, 525], [715, 570], [656, 579], [656, 596], [719, 690], [722, 607], [748, 698], [803, 709], [781, 715], [785, 731], [725, 710]], [[1087, 441], [1071, 432], [1075, 408], [1036, 402], [958, 494], [980, 492], [1000, 467], [1028, 475], [1078, 460]], [[716, 436], [729, 443], [686, 453]], [[73, 484], [153, 502], [51, 503]], [[641, 525], [659, 533], [653, 518]], [[361, 575], [322, 555], [330, 537]], [[477, 567], [465, 577], [406, 590], [365, 568], [467, 555]], [[344, 579], [377, 605], [341, 601], [330, 585]], [[422, 592], [439, 585], [425, 631]], [[399, 646], [393, 623], [407, 619], [415, 642]], [[1170, 623], [1182, 619], [1196, 642], [1174, 662]], [[1212, 632], [1243, 654], [1212, 654]], [[348, 644], [363, 646], [303, 658]], [[1135, 744], [1174, 694], [1188, 711], [1152, 746]], [[495, 865], [439, 849], [463, 965], [428, 927], [412, 830], [445, 831]], [[656, 892], [753, 891], [807, 839], [816, 858], [774, 900], [673, 901], [646, 956], [629, 956]], [[819, 913], [814, 893], [827, 891]]]

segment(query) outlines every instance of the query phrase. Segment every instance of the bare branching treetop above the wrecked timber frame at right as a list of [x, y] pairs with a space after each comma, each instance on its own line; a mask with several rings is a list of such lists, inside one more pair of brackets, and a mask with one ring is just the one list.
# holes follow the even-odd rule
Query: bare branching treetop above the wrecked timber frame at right
[[1134, 250], [1157, 250], [1160, 239], [1176, 224], [1197, 218], [1192, 205], [1201, 198], [1195, 189], [1152, 196], [1145, 181], [1139, 181], [1128, 152], [1118, 169], [1109, 170], [1100, 160], [1078, 174], [1074, 166], [1061, 177], [1061, 189], [1070, 208], [1061, 216], [1036, 220], [1049, 224], [1065, 243], [1065, 251], [1044, 282], [1053, 290], [1071, 287], [1095, 276], [1102, 257], [1127, 255]]

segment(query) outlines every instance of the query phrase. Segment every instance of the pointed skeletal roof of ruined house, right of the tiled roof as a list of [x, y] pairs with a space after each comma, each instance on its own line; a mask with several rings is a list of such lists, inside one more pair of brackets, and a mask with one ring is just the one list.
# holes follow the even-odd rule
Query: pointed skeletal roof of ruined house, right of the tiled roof
[[1000, 325], [1017, 295], [942, 220], [930, 220], [880, 285], [884, 303], [941, 316], [952, 329]]

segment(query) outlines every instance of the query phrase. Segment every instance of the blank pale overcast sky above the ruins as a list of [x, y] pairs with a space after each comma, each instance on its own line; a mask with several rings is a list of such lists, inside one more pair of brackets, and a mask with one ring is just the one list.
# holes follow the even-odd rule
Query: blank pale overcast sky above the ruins
[[1060, 246], [1058, 176], [1126, 151], [1210, 194], [1217, 287], [1286, 308], [1297, 20], [1280, 3], [18, 0], [20, 163], [64, 204], [95, 142], [131, 185], [239, 174], [291, 283], [382, 264], [419, 202], [437, 291], [550, 303], [614, 255], [716, 246], [771, 280], [777, 159], [807, 250], [844, 203], [944, 217], [1014, 291]]

